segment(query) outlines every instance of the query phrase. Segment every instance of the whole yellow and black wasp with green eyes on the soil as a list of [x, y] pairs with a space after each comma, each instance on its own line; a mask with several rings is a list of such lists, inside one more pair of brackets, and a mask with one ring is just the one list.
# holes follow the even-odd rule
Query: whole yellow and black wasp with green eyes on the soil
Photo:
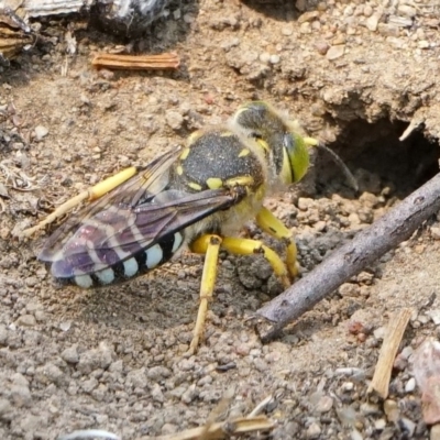
[[[301, 179], [309, 166], [309, 147], [317, 144], [268, 103], [252, 101], [224, 127], [197, 131], [185, 147], [99, 183], [26, 234], [87, 198], [89, 204], [55, 230], [38, 255], [57, 280], [82, 288], [133, 279], [187, 248], [206, 254], [190, 344], [195, 352], [220, 250], [261, 253], [286, 287], [297, 275], [293, 234], [263, 202]], [[285, 261], [261, 241], [238, 238], [252, 219], [285, 243]]]

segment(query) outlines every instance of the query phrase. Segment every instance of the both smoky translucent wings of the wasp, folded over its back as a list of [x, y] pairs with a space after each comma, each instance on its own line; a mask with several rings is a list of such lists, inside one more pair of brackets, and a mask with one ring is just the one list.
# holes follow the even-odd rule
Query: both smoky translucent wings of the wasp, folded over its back
[[184, 241], [178, 231], [244, 196], [223, 188], [196, 194], [168, 189], [175, 157], [160, 157], [73, 216], [48, 239], [38, 258], [52, 263], [55, 277], [70, 278], [114, 267], [157, 243], [162, 246], [157, 252], [166, 243], [175, 252]]

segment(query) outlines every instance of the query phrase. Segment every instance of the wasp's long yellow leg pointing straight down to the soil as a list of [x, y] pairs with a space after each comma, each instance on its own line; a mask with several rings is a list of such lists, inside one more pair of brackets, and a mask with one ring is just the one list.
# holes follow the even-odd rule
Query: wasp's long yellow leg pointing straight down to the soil
[[205, 264], [200, 285], [200, 306], [197, 314], [196, 327], [194, 328], [193, 341], [189, 345], [189, 353], [195, 353], [204, 333], [205, 321], [208, 314], [208, 301], [212, 298], [217, 278], [217, 263], [222, 239], [218, 235], [202, 235], [191, 244], [191, 251], [204, 253]]

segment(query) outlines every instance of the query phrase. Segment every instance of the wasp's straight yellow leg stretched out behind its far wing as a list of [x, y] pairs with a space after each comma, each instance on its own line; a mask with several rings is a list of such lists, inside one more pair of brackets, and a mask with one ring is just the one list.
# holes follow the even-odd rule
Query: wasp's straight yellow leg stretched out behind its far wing
[[51, 224], [58, 217], [62, 217], [66, 212], [77, 207], [84, 200], [94, 201], [96, 199], [101, 198], [107, 193], [122, 185], [130, 177], [133, 177], [136, 173], [138, 169], [134, 166], [131, 166], [130, 168], [125, 168], [122, 172], [116, 174], [114, 176], [108, 177], [107, 179], [100, 182], [99, 184], [92, 186], [91, 188], [86, 189], [81, 194], [78, 194], [78, 196], [73, 197], [72, 199], [67, 200], [65, 204], [56, 208], [54, 212], [52, 212], [50, 216], [47, 216], [44, 220], [42, 220], [33, 228], [29, 228], [22, 231], [21, 237], [30, 237], [34, 232], [40, 231], [46, 224]]

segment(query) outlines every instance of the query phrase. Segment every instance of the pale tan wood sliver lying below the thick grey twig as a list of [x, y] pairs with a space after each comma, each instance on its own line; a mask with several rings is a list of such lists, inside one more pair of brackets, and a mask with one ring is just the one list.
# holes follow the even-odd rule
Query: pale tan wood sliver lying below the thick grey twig
[[389, 380], [392, 377], [394, 360], [396, 359], [402, 338], [404, 337], [411, 314], [411, 309], [402, 309], [396, 311], [389, 318], [389, 323], [386, 328], [384, 342], [374, 371], [373, 381], [369, 386], [369, 394], [375, 392], [383, 399], [388, 397]]

